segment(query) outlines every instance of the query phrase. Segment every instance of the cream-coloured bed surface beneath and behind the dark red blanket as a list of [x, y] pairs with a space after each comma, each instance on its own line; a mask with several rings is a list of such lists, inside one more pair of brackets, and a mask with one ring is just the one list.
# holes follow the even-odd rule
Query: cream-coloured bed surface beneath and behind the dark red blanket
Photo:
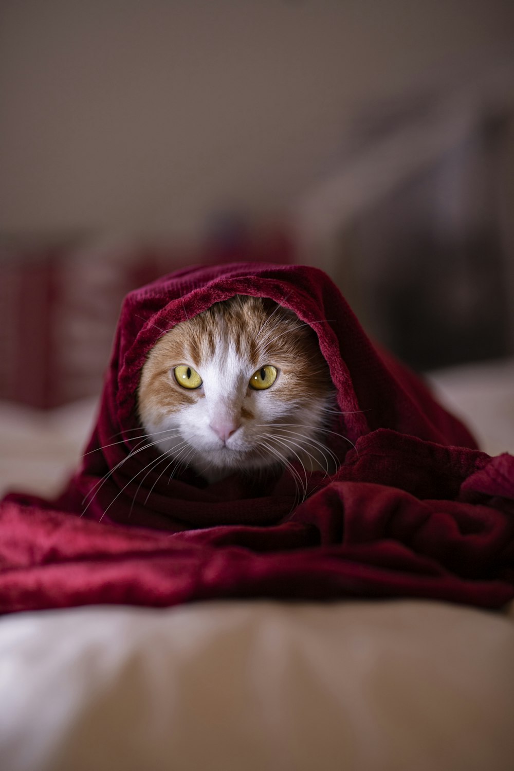
[[[514, 362], [431, 373], [514, 450]], [[52, 495], [96, 400], [0, 406], [2, 491]], [[215, 601], [0, 621], [0, 768], [497, 769], [514, 763], [514, 606]]]

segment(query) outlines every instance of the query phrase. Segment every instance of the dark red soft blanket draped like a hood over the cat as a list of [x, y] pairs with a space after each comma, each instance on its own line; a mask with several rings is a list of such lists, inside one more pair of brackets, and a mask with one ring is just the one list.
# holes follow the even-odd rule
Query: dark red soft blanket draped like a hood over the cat
[[[341, 465], [295, 506], [284, 471], [265, 485], [170, 480], [136, 409], [166, 330], [233, 295], [272, 298], [317, 334], [338, 396], [328, 439]], [[343, 438], [344, 437], [344, 438]], [[514, 598], [514, 457], [490, 458], [414, 375], [371, 342], [315, 268], [190, 268], [130, 293], [79, 470], [52, 502], [0, 505], [0, 610], [173, 605], [208, 598]]]

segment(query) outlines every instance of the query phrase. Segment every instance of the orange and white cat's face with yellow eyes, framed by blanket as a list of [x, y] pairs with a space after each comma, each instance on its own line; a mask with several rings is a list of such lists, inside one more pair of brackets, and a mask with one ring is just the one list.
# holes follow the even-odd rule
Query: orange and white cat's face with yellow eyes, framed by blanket
[[333, 393], [313, 330], [273, 301], [237, 295], [156, 342], [139, 416], [161, 452], [211, 482], [290, 460], [324, 469]]

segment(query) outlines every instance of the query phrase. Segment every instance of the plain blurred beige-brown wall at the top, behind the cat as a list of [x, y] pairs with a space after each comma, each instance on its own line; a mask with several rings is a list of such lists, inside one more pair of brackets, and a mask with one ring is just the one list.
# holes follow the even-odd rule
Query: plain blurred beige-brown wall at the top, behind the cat
[[0, 229], [287, 206], [369, 106], [512, 48], [511, 0], [2, 0]]

